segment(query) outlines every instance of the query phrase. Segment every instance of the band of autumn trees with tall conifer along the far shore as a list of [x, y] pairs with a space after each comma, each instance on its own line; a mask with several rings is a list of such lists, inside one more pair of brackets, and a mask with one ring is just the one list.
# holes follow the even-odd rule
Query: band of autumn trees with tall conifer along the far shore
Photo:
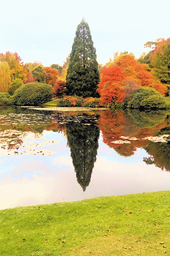
[[[132, 53], [116, 53], [113, 60], [99, 65], [89, 25], [82, 19], [77, 26], [71, 53], [62, 66], [44, 67], [41, 62], [24, 65], [17, 53], [0, 53], [0, 92], [16, 95], [25, 84], [40, 83], [51, 86], [51, 97], [79, 97], [79, 102], [80, 97], [90, 98], [91, 102], [99, 98], [100, 105], [112, 107], [166, 108], [165, 96], [169, 96], [170, 84], [170, 39], [148, 41], [145, 46], [152, 50], [148, 54], [142, 53], [139, 59], [135, 59]], [[31, 84], [30, 88], [35, 88]], [[22, 94], [22, 89], [19, 93]], [[17, 104], [16, 100], [12, 102]], [[60, 104], [65, 104], [63, 102]]]

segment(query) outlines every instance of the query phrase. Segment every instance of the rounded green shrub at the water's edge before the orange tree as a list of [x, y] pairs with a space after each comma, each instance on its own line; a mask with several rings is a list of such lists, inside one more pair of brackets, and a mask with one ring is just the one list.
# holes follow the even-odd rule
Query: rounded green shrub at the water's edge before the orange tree
[[165, 98], [153, 88], [143, 87], [129, 101], [129, 108], [166, 108]]

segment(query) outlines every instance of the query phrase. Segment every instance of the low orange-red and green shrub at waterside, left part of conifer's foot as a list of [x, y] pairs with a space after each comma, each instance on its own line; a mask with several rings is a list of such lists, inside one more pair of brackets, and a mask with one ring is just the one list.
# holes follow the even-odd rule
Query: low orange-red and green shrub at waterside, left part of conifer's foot
[[65, 96], [58, 101], [60, 107], [80, 107], [83, 104], [83, 98], [78, 96]]

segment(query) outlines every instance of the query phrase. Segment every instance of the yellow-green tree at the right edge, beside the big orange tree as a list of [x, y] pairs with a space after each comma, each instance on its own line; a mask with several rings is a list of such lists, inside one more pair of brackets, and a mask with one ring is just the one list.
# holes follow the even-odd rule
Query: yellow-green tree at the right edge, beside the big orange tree
[[[164, 84], [170, 84], [170, 38], [162, 39], [151, 56], [152, 73]], [[169, 88], [169, 85], [168, 85]]]

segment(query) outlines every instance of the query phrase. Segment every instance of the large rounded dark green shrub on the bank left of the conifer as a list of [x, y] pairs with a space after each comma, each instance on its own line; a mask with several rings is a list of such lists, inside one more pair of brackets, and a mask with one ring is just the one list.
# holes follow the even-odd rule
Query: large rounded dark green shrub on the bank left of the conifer
[[37, 82], [22, 85], [12, 96], [15, 105], [40, 105], [51, 100], [53, 87]]

